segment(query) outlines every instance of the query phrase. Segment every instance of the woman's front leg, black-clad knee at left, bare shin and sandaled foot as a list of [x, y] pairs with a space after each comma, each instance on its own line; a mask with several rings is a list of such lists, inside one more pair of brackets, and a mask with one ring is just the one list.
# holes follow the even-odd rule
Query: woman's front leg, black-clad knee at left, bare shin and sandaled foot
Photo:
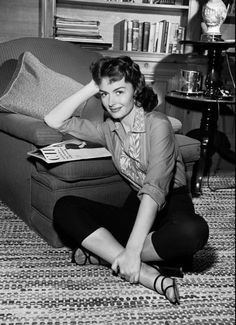
[[[133, 221], [128, 222], [126, 225], [122, 223], [122, 220], [117, 222], [116, 215], [119, 219], [122, 219], [122, 216], [124, 216], [124, 214], [121, 214], [120, 209], [86, 199], [65, 197], [60, 199], [55, 206], [54, 225], [65, 243], [70, 243], [72, 247], [78, 247], [82, 244], [84, 248], [112, 264], [115, 257], [124, 249], [121, 242], [125, 243], [127, 241], [133, 224]], [[130, 217], [130, 214], [128, 216]], [[123, 230], [123, 236], [120, 241], [103, 227], [107, 222], [107, 217], [110, 220], [116, 219], [116, 224], [113, 223], [110, 228], [113, 227], [116, 231], [117, 228], [120, 228], [120, 231]], [[159, 275], [158, 270], [146, 263], [142, 263], [139, 282], [152, 290], [157, 290], [161, 294], [163, 293], [161, 281], [164, 279], [164, 289], [169, 287], [166, 291], [166, 297], [170, 302], [175, 303], [176, 294], [173, 288], [173, 280], [163, 276], [158, 277]], [[154, 288], [154, 280], [157, 277]]]

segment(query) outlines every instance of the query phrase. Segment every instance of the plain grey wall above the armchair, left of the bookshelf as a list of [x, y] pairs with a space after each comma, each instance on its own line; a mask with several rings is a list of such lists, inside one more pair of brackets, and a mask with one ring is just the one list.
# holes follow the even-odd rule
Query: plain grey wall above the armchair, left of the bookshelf
[[40, 35], [40, 0], [0, 0], [0, 42]]

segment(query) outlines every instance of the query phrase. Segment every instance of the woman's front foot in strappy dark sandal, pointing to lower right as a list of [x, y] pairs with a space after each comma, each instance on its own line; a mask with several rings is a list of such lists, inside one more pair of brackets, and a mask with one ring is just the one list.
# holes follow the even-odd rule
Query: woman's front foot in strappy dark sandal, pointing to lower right
[[164, 295], [172, 304], [180, 304], [179, 292], [175, 279], [158, 274], [153, 283], [154, 290]]

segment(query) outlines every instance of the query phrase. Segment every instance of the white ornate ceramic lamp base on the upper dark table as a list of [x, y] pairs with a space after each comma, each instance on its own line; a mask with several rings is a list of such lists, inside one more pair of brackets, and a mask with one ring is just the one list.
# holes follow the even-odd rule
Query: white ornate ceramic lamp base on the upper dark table
[[227, 7], [222, 0], [208, 0], [202, 8], [202, 41], [222, 41], [220, 27], [226, 19]]

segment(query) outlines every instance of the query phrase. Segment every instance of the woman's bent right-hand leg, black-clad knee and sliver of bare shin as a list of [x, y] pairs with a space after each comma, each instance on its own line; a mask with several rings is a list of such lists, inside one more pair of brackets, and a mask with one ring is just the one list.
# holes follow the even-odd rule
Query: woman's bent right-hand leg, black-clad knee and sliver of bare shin
[[163, 211], [157, 214], [153, 232], [145, 241], [143, 261], [178, 261], [191, 258], [206, 244], [209, 228], [195, 214], [190, 196], [174, 191]]

